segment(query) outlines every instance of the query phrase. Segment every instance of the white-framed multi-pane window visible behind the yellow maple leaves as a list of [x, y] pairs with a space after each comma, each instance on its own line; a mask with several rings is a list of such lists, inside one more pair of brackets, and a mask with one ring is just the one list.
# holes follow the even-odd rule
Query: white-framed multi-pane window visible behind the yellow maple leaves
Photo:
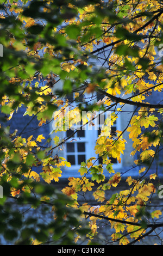
[[[69, 96], [70, 97], [70, 96]], [[103, 98], [103, 97], [102, 97]], [[73, 95], [71, 95], [71, 100], [73, 100]], [[96, 99], [97, 100], [97, 99]], [[98, 95], [99, 100], [99, 95]], [[80, 168], [82, 162], [86, 162], [90, 157], [99, 157], [95, 154], [95, 145], [96, 139], [101, 133], [102, 125], [104, 120], [108, 118], [110, 112], [100, 113], [98, 120], [98, 129], [92, 127], [92, 130], [89, 129], [88, 125], [83, 127], [82, 130], [77, 130], [77, 132], [65, 143], [65, 159], [71, 163], [71, 169], [77, 170]], [[97, 125], [96, 121], [94, 122]], [[78, 127], [82, 123], [78, 124]], [[77, 129], [77, 127], [76, 127]], [[114, 123], [111, 127], [111, 134], [114, 136], [116, 130], [120, 130], [120, 118]], [[69, 137], [74, 133], [74, 130], [67, 130], [64, 137]], [[120, 163], [117, 162], [117, 159], [111, 158], [111, 162], [114, 163], [114, 168], [120, 167]], [[102, 157], [99, 157], [99, 160], [96, 164], [102, 163]]]

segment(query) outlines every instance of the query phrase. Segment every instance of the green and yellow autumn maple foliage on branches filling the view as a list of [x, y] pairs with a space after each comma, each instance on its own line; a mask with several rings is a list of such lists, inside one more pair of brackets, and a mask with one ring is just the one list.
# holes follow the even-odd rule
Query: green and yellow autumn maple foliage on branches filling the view
[[[147, 175], [162, 143], [163, 105], [150, 103], [153, 93], [161, 93], [163, 87], [162, 60], [155, 59], [155, 50], [162, 43], [162, 4], [156, 0], [9, 0], [1, 4], [0, 176], [4, 196], [0, 199], [0, 230], [7, 241], [70, 245], [85, 237], [93, 243], [103, 219], [115, 230], [111, 240], [105, 237], [106, 243], [126, 245], [162, 227], [163, 223], [154, 221], [161, 211], [150, 213], [147, 208], [156, 194], [152, 180], [158, 173]], [[60, 81], [62, 88], [57, 87]], [[73, 101], [65, 100], [71, 93]], [[93, 102], [96, 94], [103, 95], [103, 100]], [[126, 105], [135, 107], [126, 128], [114, 136], [106, 128], [97, 138], [95, 153], [103, 163], [96, 165], [98, 157], [82, 162], [80, 178], [70, 177], [62, 193], [51, 183], [58, 182], [63, 168], [71, 168], [71, 164], [55, 154], [55, 149], [62, 150], [77, 131], [61, 140], [55, 136], [54, 146], [43, 134], [24, 138], [28, 124], [14, 133], [8, 125], [21, 107], [26, 108], [24, 116], [37, 118], [38, 127], [55, 120], [55, 131], [61, 130], [60, 124], [71, 128], [87, 110], [112, 111], [112, 125]], [[84, 125], [87, 123], [90, 117], [85, 118]], [[119, 191], [120, 186], [119, 192], [108, 198], [108, 191], [122, 181], [111, 158], [121, 163], [126, 131], [133, 141], [131, 156], [140, 155], [134, 161], [139, 176], [128, 176], [128, 189]], [[36, 167], [41, 167], [41, 172], [36, 172]], [[91, 180], [86, 178], [88, 173]], [[92, 192], [98, 207], [79, 204], [79, 195], [85, 197], [86, 192]], [[12, 211], [10, 201], [17, 202], [18, 211]], [[47, 225], [37, 218], [24, 221], [20, 215], [22, 205], [40, 209], [44, 204], [44, 214], [49, 208], [54, 213]], [[87, 219], [89, 229], [79, 216]]]

